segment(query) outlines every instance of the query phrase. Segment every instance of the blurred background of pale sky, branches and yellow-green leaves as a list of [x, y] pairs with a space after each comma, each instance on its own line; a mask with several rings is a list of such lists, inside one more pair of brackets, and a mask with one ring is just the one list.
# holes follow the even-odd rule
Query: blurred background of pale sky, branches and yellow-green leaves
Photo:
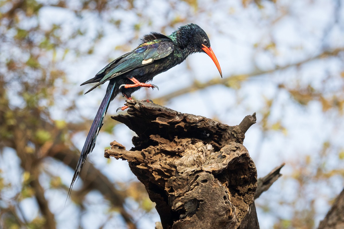
[[223, 79], [193, 54], [133, 99], [228, 125], [256, 112], [244, 145], [258, 177], [286, 163], [256, 201], [260, 227], [318, 226], [344, 187], [344, 1], [0, 0], [0, 228], [154, 228], [127, 162], [104, 158], [113, 140], [132, 146], [110, 118], [123, 98], [66, 200], [106, 90], [79, 84], [144, 34], [188, 23], [208, 34]]

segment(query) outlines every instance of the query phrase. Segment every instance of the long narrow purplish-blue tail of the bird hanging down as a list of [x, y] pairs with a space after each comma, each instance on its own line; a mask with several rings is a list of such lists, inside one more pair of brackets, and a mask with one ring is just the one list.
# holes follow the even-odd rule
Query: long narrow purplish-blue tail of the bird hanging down
[[110, 80], [109, 85], [106, 89], [106, 94], [104, 96], [104, 99], [100, 104], [96, 117], [94, 118], [92, 126], [88, 132], [83, 150], [81, 151], [78, 164], [76, 165], [76, 169], [74, 172], [71, 186], [69, 186], [67, 198], [71, 195], [73, 184], [75, 180], [78, 178], [84, 166], [84, 163], [86, 162], [88, 154], [92, 152], [96, 144], [96, 139], [97, 139], [101, 126], [103, 126], [104, 117], [109, 107], [110, 101], [114, 99], [116, 95], [119, 93], [119, 90], [115, 89], [115, 85], [116, 85], [115, 82]]

